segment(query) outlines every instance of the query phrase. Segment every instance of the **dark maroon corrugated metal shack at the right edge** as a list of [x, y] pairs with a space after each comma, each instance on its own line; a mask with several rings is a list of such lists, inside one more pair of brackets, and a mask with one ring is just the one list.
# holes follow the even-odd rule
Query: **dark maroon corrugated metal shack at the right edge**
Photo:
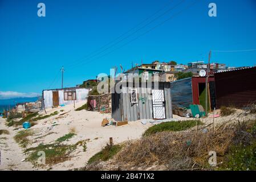
[[256, 67], [214, 73], [217, 108], [256, 103]]

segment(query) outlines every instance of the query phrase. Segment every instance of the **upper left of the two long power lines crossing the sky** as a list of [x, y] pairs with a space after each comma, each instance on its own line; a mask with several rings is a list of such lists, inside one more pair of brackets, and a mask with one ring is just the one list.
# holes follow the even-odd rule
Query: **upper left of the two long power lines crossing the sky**
[[[116, 46], [117, 44], [119, 44], [120, 42], [123, 42], [125, 39], [131, 37], [132, 35], [136, 34], [136, 32], [142, 30], [143, 28], [147, 27], [149, 24], [155, 22], [157, 19], [161, 18], [162, 16], [164, 16], [165, 14], [169, 13], [170, 11], [172, 11], [173, 9], [175, 9], [178, 5], [180, 5], [181, 3], [183, 3], [185, 0], [180, 1], [179, 3], [177, 3], [177, 5], [175, 5], [174, 7], [171, 7], [170, 9], [166, 10], [164, 13], [160, 14], [159, 16], [157, 16], [156, 18], [154, 18], [153, 20], [151, 20], [150, 22], [148, 22], [147, 24], [145, 24], [144, 26], [140, 27], [139, 29], [137, 29], [136, 31], [132, 32], [131, 34], [125, 36], [123, 39], [117, 41], [116, 43], [112, 44], [111, 46], [108, 46], [107, 48], [103, 49], [102, 51], [100, 51], [99, 53], [96, 53], [90, 57], [88, 57], [88, 59], [91, 59], [92, 57], [95, 57], [97, 55], [100, 55], [101, 53], [107, 51], [109, 48], [112, 48], [114, 46]], [[134, 29], [134, 28], [132, 28]], [[128, 31], [129, 32], [129, 31]], [[124, 34], [125, 35], [125, 34]], [[121, 36], [120, 36], [121, 37]], [[83, 60], [79, 61], [76, 64], [79, 64], [80, 62], [83, 62]], [[74, 64], [73, 67], [76, 65]], [[71, 68], [72, 69], [72, 68]]]

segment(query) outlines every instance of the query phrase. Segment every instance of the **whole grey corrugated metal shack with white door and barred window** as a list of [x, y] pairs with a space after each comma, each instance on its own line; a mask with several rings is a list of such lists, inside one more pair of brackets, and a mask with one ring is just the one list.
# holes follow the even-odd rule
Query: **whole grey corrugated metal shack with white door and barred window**
[[112, 93], [112, 118], [116, 121], [172, 118], [170, 83], [119, 82]]

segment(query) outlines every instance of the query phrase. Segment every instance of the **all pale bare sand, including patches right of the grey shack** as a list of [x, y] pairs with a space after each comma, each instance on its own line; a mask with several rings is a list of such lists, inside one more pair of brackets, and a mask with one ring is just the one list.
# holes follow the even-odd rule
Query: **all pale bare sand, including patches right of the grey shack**
[[[76, 108], [82, 106], [84, 103], [76, 104]], [[64, 110], [64, 111], [60, 111]], [[74, 152], [72, 152], [72, 158], [66, 162], [56, 164], [51, 167], [51, 170], [68, 170], [74, 168], [84, 167], [94, 154], [99, 152], [108, 142], [109, 137], [113, 138], [113, 143], [121, 143], [127, 140], [139, 139], [148, 127], [151, 127], [151, 123], [146, 125], [141, 124], [140, 121], [129, 122], [124, 126], [101, 126], [101, 121], [104, 118], [111, 121], [111, 114], [100, 114], [92, 111], [75, 111], [73, 105], [64, 107], [57, 107], [54, 109], [47, 109], [47, 114], [59, 111], [58, 115], [54, 115], [50, 118], [42, 119], [38, 121], [38, 124], [31, 127], [35, 131], [35, 134], [30, 138], [32, 144], [29, 147], [36, 147], [40, 143], [47, 144], [52, 143], [59, 137], [63, 137], [68, 134], [70, 130], [75, 130], [76, 135], [64, 142], [64, 144], [75, 144], [81, 140], [90, 139], [87, 142], [87, 150], [83, 151], [83, 147], [79, 146]], [[215, 114], [220, 113], [217, 110]], [[39, 114], [45, 114], [44, 111]], [[62, 114], [62, 115], [60, 115]], [[213, 123], [213, 114], [210, 114], [208, 118], [200, 119], [202, 122], [209, 124]], [[178, 121], [191, 120], [193, 118], [179, 117], [173, 115]], [[214, 118], [214, 124], [218, 125], [227, 121], [247, 121], [249, 119], [256, 119], [256, 114], [248, 114], [245, 111], [237, 110], [235, 114], [227, 117]], [[23, 154], [23, 148], [14, 141], [13, 137], [18, 131], [14, 130], [14, 127], [6, 127], [5, 119], [0, 118], [0, 129], [6, 129], [10, 132], [9, 135], [0, 135], [0, 150], [1, 150], [1, 165], [0, 170], [46, 170], [46, 168], [33, 167], [31, 163], [23, 161], [26, 155]], [[45, 136], [44, 136], [45, 135]], [[40, 138], [41, 137], [41, 138]], [[39, 138], [39, 139], [38, 139]], [[47, 157], [47, 156], [46, 156]]]

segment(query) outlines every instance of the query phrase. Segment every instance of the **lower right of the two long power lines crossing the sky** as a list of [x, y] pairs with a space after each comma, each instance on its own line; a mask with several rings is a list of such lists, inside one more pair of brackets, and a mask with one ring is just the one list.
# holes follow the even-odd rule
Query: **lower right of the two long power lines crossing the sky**
[[[95, 60], [97, 60], [97, 59], [100, 59], [101, 57], [104, 57], [104, 56], [106, 56], [106, 55], [109, 55], [109, 53], [112, 53], [112, 52], [116, 51], [117, 49], [120, 49], [120, 48], [126, 46], [127, 44], [129, 44], [129, 43], [131, 43], [131, 42], [133, 42], [133, 41], [139, 39], [141, 36], [143, 36], [143, 35], [145, 35], [145, 34], [148, 34], [148, 32], [150, 32], [150, 31], [154, 30], [155, 28], [161, 26], [161, 25], [164, 24], [165, 22], [168, 22], [170, 19], [172, 19], [172, 18], [174, 18], [175, 16], [177, 16], [178, 14], [182, 13], [184, 10], [188, 9], [189, 7], [192, 7], [192, 6], [195, 5], [197, 2], [199, 2], [199, 0], [196, 0], [196, 1], [194, 1], [193, 3], [189, 4], [188, 6], [185, 7], [185, 9], [182, 9], [181, 11], [179, 11], [179, 12], [176, 13], [176, 14], [174, 14], [173, 16], [170, 16], [170, 18], [164, 20], [163, 22], [157, 24], [155, 27], [153, 27], [153, 28], [149, 29], [148, 31], [144, 32], [143, 34], [137, 36], [135, 39], [130, 40], [129, 42], [123, 44], [122, 46], [120, 46], [120, 47], [118, 47], [118, 48], [116, 48], [116, 49], [113, 49], [112, 51], [110, 51], [110, 52], [108, 52], [108, 53], [105, 53], [104, 55], [101, 55], [101, 56], [99, 56], [99, 57], [96, 57], [96, 59], [92, 59], [92, 60], [90, 60], [90, 61], [87, 61], [86, 63], [89, 63], [89, 62], [91, 62], [91, 61], [95, 61]], [[80, 65], [83, 65], [83, 64], [84, 64], [84, 63], [82, 63], [82, 64], [80, 64]]]

